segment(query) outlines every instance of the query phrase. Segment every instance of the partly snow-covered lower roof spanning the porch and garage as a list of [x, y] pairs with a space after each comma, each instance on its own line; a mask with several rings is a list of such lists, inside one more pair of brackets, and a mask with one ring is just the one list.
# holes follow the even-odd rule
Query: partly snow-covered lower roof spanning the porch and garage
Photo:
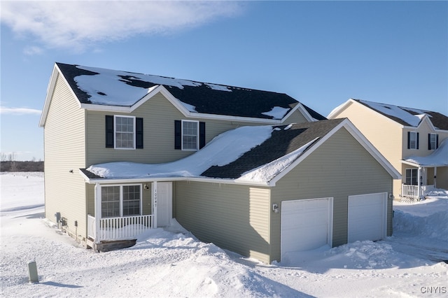
[[190, 177], [268, 183], [343, 120], [239, 127], [216, 136], [201, 150], [175, 162], [111, 162], [90, 166], [83, 173], [90, 178], [106, 179]]

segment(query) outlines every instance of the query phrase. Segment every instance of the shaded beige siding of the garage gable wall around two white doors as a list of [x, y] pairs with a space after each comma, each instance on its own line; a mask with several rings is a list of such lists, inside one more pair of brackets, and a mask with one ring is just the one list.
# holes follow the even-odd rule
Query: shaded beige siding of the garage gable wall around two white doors
[[[272, 203], [333, 198], [332, 245], [347, 241], [348, 197], [392, 191], [392, 178], [346, 129], [339, 129], [272, 187]], [[391, 235], [391, 201], [387, 234]], [[273, 260], [280, 258], [280, 213], [272, 215]]]

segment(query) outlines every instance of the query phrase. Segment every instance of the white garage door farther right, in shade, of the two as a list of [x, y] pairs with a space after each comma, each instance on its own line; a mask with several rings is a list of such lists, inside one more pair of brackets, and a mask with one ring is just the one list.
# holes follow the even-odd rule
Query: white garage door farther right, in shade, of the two
[[348, 241], [379, 240], [386, 236], [387, 193], [349, 197]]

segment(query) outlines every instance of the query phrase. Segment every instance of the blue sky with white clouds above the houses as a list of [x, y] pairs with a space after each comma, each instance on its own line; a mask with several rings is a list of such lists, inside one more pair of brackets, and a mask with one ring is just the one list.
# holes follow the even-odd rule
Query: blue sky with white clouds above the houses
[[55, 62], [448, 115], [447, 1], [1, 1], [1, 152], [44, 159]]

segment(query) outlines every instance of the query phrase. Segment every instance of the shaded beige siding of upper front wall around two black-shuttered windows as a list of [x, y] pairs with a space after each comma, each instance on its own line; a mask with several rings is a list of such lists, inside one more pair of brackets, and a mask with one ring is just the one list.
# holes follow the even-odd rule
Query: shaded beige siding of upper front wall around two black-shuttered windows
[[[105, 115], [132, 115], [144, 118], [144, 149], [119, 150], [105, 148]], [[243, 125], [260, 125], [259, 122], [235, 122], [186, 118], [162, 94], [156, 94], [132, 113], [87, 111], [87, 164], [102, 162], [172, 162], [195, 151], [174, 149], [174, 120], [206, 122], [206, 142], [218, 134]]]

